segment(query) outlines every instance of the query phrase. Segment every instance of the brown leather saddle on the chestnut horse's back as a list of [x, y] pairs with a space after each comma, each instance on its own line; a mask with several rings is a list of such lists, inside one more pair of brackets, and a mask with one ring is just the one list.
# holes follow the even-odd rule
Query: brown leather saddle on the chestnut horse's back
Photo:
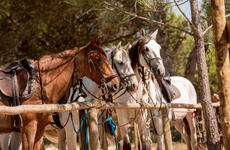
[[0, 68], [0, 91], [8, 96], [13, 97], [12, 73], [15, 71], [18, 94], [21, 95], [26, 88], [29, 74], [28, 71], [18, 61], [12, 62], [5, 68]]

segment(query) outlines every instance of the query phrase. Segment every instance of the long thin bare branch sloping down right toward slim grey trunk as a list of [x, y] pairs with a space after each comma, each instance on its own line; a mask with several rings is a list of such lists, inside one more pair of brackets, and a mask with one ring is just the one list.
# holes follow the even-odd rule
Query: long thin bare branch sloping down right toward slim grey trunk
[[163, 26], [171, 27], [171, 28], [174, 28], [174, 29], [177, 29], [177, 30], [186, 32], [187, 34], [193, 36], [193, 34], [192, 34], [191, 32], [188, 32], [188, 31], [186, 31], [186, 30], [184, 30], [184, 29], [181, 29], [181, 28], [178, 28], [178, 27], [169, 25], [169, 24], [165, 24], [165, 23], [162, 23], [162, 22], [159, 22], [159, 21], [151, 20], [151, 19], [148, 19], [148, 18], [145, 18], [145, 17], [142, 17], [142, 16], [135, 15], [135, 14], [129, 13], [129, 12], [127, 12], [127, 11], [124, 11], [124, 10], [122, 10], [122, 9], [120, 9], [120, 8], [118, 8], [118, 7], [114, 6], [114, 5], [112, 5], [112, 4], [109, 4], [109, 3], [105, 2], [105, 1], [103, 1], [103, 2], [104, 2], [106, 5], [109, 5], [109, 6], [115, 8], [115, 9], [117, 9], [117, 10], [119, 10], [119, 11], [121, 11], [121, 12], [127, 14], [127, 15], [130, 15], [130, 16], [136, 17], [136, 18], [138, 18], [138, 19], [148, 21], [148, 22], [153, 22], [153, 23], [157, 23], [157, 24], [160, 24], [160, 25], [163, 25]]

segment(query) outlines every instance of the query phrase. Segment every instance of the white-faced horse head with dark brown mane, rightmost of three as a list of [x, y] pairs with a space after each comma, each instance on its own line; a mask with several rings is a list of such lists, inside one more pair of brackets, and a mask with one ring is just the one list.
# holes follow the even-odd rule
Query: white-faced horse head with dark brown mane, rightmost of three
[[163, 59], [160, 56], [161, 46], [155, 41], [158, 30], [152, 34], [145, 35], [144, 30], [140, 31], [140, 38], [135, 41], [129, 51], [132, 66], [138, 65], [147, 67], [153, 72], [157, 79], [163, 78], [165, 68]]

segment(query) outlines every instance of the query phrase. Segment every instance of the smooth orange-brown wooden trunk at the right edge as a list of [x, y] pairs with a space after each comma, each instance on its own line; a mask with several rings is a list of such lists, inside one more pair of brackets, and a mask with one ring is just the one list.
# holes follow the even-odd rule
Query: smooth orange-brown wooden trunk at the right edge
[[230, 80], [224, 0], [211, 1], [213, 39], [216, 54], [216, 73], [220, 96], [221, 126], [225, 149], [230, 149]]

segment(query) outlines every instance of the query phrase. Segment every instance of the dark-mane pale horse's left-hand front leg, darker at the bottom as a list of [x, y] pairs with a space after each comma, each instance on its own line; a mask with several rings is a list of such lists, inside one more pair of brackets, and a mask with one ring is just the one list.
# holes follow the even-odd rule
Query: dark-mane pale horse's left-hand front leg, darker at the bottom
[[131, 150], [131, 144], [128, 135], [129, 114], [127, 110], [119, 109], [117, 112], [117, 120], [120, 129], [120, 141], [118, 143], [119, 150]]

